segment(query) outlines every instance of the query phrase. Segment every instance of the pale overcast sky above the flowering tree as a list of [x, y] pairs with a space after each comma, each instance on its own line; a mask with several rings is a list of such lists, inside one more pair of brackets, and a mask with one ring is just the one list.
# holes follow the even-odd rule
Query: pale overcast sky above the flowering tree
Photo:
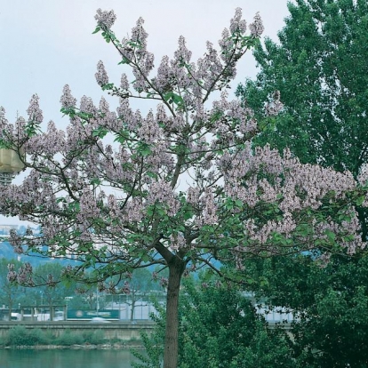
[[[78, 100], [85, 94], [98, 104], [100, 97], [106, 96], [94, 78], [99, 60], [103, 60], [110, 81], [119, 84], [126, 66], [117, 65], [120, 58], [111, 44], [100, 34], [92, 35], [98, 8], [114, 9], [117, 20], [113, 30], [118, 38], [130, 34], [141, 16], [149, 35], [148, 51], [155, 53], [157, 66], [165, 54], [172, 57], [180, 35], [187, 39], [192, 60], [201, 57], [207, 40], [217, 44], [236, 7], [243, 9], [248, 24], [260, 12], [263, 36], [276, 40], [288, 16], [286, 4], [287, 0], [0, 0], [0, 106], [13, 122], [17, 112], [27, 116], [30, 97], [37, 93], [44, 123], [53, 120], [60, 127], [68, 123], [60, 114], [65, 84]], [[255, 75], [249, 53], [240, 61], [232, 85]], [[111, 105], [116, 106], [117, 101]], [[14, 220], [0, 217], [1, 223]]]

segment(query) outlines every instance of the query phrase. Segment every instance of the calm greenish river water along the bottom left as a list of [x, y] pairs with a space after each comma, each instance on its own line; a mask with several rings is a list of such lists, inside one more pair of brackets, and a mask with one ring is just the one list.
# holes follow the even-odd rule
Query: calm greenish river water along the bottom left
[[131, 368], [129, 350], [0, 349], [1, 368]]

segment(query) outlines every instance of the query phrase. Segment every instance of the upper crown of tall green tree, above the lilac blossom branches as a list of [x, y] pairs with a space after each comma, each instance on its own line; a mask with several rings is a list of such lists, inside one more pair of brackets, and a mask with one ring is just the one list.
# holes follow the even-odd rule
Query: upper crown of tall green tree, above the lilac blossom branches
[[[356, 178], [368, 159], [368, 3], [364, 0], [297, 0], [278, 33], [254, 50], [255, 81], [237, 88], [263, 120], [254, 143], [290, 148], [302, 163], [321, 164]], [[270, 96], [279, 91], [282, 114], [266, 118]], [[367, 212], [358, 209], [363, 238]]]

